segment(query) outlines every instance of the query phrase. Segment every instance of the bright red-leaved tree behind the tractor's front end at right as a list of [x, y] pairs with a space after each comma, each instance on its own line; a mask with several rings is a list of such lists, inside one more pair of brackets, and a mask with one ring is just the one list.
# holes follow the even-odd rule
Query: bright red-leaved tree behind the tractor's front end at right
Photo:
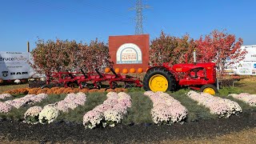
[[[195, 42], [198, 62], [215, 62], [220, 74], [227, 65], [241, 61], [246, 54], [246, 50], [241, 49], [242, 38], [237, 41], [235, 35], [227, 34], [226, 30], [213, 30]], [[227, 58], [232, 59], [232, 62], [228, 62]]]

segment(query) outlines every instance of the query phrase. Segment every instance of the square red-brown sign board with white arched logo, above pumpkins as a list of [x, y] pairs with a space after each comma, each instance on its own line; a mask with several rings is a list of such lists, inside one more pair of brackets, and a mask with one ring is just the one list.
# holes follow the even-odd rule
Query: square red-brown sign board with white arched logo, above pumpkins
[[150, 35], [118, 35], [109, 38], [110, 61], [114, 62], [114, 69], [122, 70], [142, 69], [149, 67]]

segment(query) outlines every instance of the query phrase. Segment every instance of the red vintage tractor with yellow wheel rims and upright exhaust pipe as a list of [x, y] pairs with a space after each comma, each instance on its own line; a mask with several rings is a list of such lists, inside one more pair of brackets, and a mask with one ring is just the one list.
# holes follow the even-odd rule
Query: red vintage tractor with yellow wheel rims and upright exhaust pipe
[[143, 79], [144, 90], [174, 91], [181, 86], [189, 86], [191, 89], [201, 92], [218, 93], [216, 78], [216, 66], [213, 62], [176, 64], [168, 66], [153, 66], [146, 71]]

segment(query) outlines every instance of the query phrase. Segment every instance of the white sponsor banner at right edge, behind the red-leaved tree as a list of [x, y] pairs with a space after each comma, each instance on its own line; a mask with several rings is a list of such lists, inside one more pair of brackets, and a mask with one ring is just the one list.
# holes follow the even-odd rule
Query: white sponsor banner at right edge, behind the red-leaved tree
[[[242, 46], [248, 53], [241, 62], [236, 62], [227, 68], [229, 74], [256, 75], [256, 45]], [[232, 60], [230, 60], [232, 62]]]

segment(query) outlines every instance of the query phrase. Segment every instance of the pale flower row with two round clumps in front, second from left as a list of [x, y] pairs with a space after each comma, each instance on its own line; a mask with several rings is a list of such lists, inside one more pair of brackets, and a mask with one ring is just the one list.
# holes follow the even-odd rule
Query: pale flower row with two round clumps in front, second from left
[[68, 112], [69, 110], [74, 110], [77, 106], [83, 106], [85, 102], [86, 94], [84, 93], [67, 94], [64, 100], [48, 104], [43, 109], [40, 106], [31, 107], [24, 114], [25, 122], [32, 124], [54, 122], [60, 111]]

